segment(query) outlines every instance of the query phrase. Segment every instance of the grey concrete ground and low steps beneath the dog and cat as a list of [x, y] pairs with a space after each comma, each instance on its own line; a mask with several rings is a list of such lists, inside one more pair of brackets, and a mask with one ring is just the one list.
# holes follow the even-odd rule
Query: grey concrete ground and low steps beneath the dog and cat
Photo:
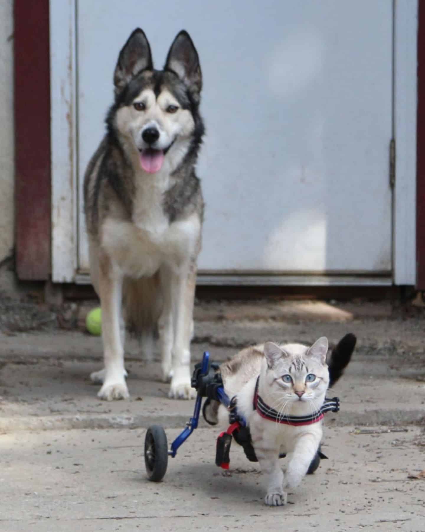
[[[422, 311], [388, 304], [199, 304], [192, 359], [226, 360], [267, 339], [358, 346], [329, 396], [315, 475], [284, 508], [262, 504], [257, 464], [235, 443], [231, 469], [215, 465], [217, 430], [203, 420], [169, 459], [164, 481], [146, 479], [146, 428], [171, 442], [193, 402], [167, 398], [159, 361], [130, 341], [130, 401], [106, 403], [88, 379], [100, 368], [100, 339], [55, 327], [0, 335], [0, 530], [425, 530], [425, 355]], [[47, 320], [48, 321], [48, 320]], [[282, 461], [284, 464], [284, 460]], [[424, 473], [425, 475], [425, 473]], [[418, 477], [418, 478], [415, 478]], [[284, 520], [283, 520], [284, 519]]]

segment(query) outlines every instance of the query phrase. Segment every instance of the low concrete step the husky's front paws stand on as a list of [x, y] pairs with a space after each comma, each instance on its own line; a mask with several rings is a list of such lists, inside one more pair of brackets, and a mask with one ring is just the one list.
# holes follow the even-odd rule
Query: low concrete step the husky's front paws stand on
[[[69, 352], [77, 353], [81, 338], [64, 336], [62, 344], [66, 338], [69, 356], [55, 351], [52, 343], [50, 351], [44, 347], [41, 356], [37, 356], [37, 348], [32, 343], [32, 358], [26, 360], [24, 350], [17, 352], [17, 345], [12, 353], [14, 357], [11, 353], [7, 356], [3, 353], [0, 431], [146, 428], [156, 422], [169, 428], [183, 428], [191, 417], [193, 401], [168, 398], [169, 385], [160, 380], [159, 362], [142, 361], [134, 352], [129, 354], [126, 364], [130, 372], [130, 401], [100, 401], [96, 396], [99, 385], [92, 384], [89, 379], [90, 372], [100, 368], [100, 345], [97, 355], [92, 351], [92, 357], [86, 352], [78, 358], [77, 354], [73, 356]], [[73, 338], [78, 339], [76, 345], [72, 344]], [[45, 338], [43, 345], [47, 344]], [[194, 362], [200, 360], [202, 349], [199, 356], [194, 355]], [[214, 358], [226, 360], [233, 353], [233, 348], [215, 349]], [[423, 422], [425, 383], [417, 380], [416, 373], [405, 378], [398, 376], [400, 372], [392, 369], [393, 362], [382, 356], [358, 355], [334, 389], [328, 392], [329, 397], [340, 398], [341, 411], [327, 413], [326, 423], [331, 426], [399, 426]], [[201, 426], [207, 426], [203, 420]]]

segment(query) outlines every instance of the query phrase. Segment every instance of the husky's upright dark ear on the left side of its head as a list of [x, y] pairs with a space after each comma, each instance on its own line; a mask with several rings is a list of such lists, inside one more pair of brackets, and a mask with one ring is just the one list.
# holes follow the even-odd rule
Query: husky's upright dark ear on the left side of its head
[[152, 56], [145, 32], [137, 28], [123, 46], [114, 73], [115, 94], [120, 94], [128, 82], [145, 69], [152, 70]]

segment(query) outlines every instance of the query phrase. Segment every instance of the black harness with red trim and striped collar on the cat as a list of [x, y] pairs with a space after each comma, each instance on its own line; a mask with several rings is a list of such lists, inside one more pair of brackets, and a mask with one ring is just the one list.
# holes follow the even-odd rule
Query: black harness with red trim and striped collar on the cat
[[[339, 411], [339, 399], [333, 397], [332, 399], [326, 398], [320, 409], [313, 412], [310, 415], [287, 415], [278, 412], [265, 403], [258, 394], [257, 379], [256, 388], [253, 397], [253, 409], [257, 410], [258, 414], [262, 418], [274, 421], [275, 423], [283, 423], [283, 425], [292, 426], [304, 426], [317, 423], [324, 418], [326, 412], [338, 412]], [[221, 433], [217, 438], [217, 451], [216, 451], [216, 465], [223, 469], [229, 468], [230, 463], [230, 446], [232, 443], [232, 436], [235, 438], [236, 443], [243, 447], [245, 455], [250, 462], [258, 462], [256, 453], [252, 446], [251, 434], [249, 427], [247, 427], [246, 420], [237, 413], [236, 397], [233, 397], [228, 407], [230, 411], [229, 421], [230, 427], [226, 432]], [[318, 451], [320, 458], [327, 458], [321, 451]], [[279, 458], [283, 458], [285, 454], [279, 455]]]

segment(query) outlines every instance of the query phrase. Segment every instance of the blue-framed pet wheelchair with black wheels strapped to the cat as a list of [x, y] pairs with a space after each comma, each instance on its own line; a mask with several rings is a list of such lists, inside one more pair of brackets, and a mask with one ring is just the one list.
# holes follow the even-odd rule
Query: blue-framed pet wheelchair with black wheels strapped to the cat
[[[221, 375], [217, 372], [218, 367], [219, 364], [210, 362], [207, 351], [203, 353], [202, 362], [196, 364], [191, 379], [192, 388], [197, 390], [193, 416], [186, 423], [186, 427], [181, 434], [174, 439], [169, 449], [164, 428], [161, 425], [151, 425], [148, 428], [145, 437], [145, 465], [148, 479], [152, 482], [160, 482], [164, 478], [167, 471], [168, 456], [174, 458], [179, 447], [189, 438], [194, 429], [198, 427], [202, 398], [204, 397], [207, 399], [203, 405], [202, 413], [204, 419], [210, 425], [216, 425], [216, 423], [208, 421], [206, 417], [206, 408], [211, 400], [216, 400], [223, 404], [230, 412], [230, 427], [217, 438], [216, 465], [223, 469], [228, 469], [232, 437], [236, 443], [243, 447], [248, 460], [251, 462], [258, 461], [251, 443], [249, 427], [247, 427], [246, 420], [237, 414], [235, 398], [231, 399], [225, 393]], [[339, 400], [337, 397], [325, 400], [324, 406], [321, 408], [321, 413], [328, 411], [339, 411]], [[279, 458], [284, 458], [284, 456], [285, 454], [281, 454]], [[327, 456], [321, 452], [319, 446], [315, 457], [310, 463], [307, 474], [311, 475], [314, 473], [319, 467], [320, 460], [326, 458]]]

